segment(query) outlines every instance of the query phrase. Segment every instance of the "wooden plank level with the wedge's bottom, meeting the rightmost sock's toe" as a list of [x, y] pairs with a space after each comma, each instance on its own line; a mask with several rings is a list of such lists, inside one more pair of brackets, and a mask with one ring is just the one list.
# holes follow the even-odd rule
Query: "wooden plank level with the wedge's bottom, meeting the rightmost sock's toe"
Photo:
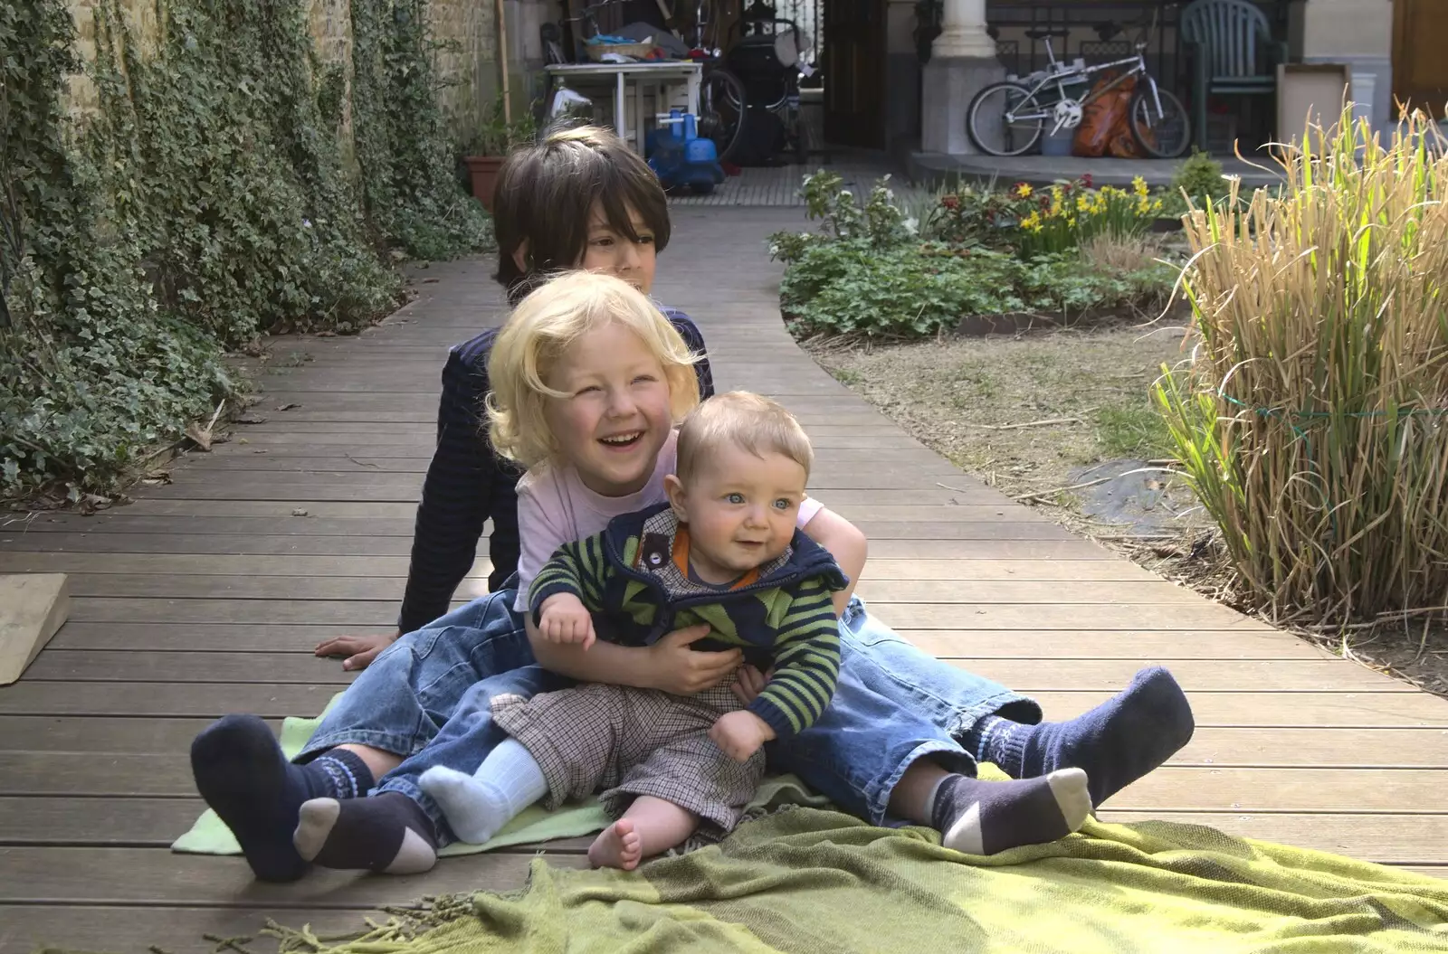
[[[139, 650], [58, 650], [46, 653], [26, 682], [258, 682], [317, 683], [342, 680], [333, 660], [295, 647], [291, 653], [149, 653]], [[1124, 688], [1147, 660], [1100, 659], [950, 659], [953, 666], [1025, 691]], [[1413, 686], [1341, 659], [1308, 660], [1153, 660], [1167, 666], [1190, 692], [1418, 692]], [[1448, 701], [1444, 702], [1448, 715]]]

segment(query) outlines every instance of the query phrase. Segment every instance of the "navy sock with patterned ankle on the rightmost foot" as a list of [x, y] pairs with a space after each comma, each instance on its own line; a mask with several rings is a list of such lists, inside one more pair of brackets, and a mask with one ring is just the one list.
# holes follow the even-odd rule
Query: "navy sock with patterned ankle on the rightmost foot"
[[964, 744], [979, 761], [993, 761], [1012, 779], [1085, 769], [1092, 805], [1100, 808], [1192, 741], [1195, 728], [1182, 686], [1166, 669], [1153, 666], [1085, 715], [1040, 725], [988, 715]]

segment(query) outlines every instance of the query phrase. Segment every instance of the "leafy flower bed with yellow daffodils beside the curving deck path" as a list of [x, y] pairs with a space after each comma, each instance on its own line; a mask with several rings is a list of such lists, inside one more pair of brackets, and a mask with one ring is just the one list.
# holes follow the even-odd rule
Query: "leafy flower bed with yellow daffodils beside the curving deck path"
[[1095, 188], [1089, 177], [1045, 190], [959, 190], [917, 214], [882, 180], [863, 203], [838, 175], [805, 180], [817, 232], [778, 233], [788, 263], [780, 305], [801, 334], [921, 337], [972, 316], [1158, 308], [1177, 269], [1147, 236], [1161, 198]]

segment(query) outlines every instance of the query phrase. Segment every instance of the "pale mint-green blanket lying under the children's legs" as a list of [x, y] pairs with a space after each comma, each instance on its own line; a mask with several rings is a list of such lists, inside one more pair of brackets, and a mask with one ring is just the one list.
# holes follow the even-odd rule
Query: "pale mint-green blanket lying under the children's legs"
[[[337, 696], [340, 695], [342, 693], [337, 693]], [[332, 701], [327, 702], [329, 709], [336, 704], [337, 696], [332, 696]], [[323, 709], [321, 715], [326, 715], [326, 709]], [[301, 751], [301, 747], [307, 744], [308, 738], [311, 738], [311, 733], [317, 728], [317, 722], [320, 721], [320, 715], [314, 719], [288, 717], [282, 721], [281, 748], [287, 753], [288, 759]], [[799, 782], [799, 779], [785, 774], [765, 779], [765, 783], [754, 795], [754, 801], [750, 802], [747, 814], [759, 814], [780, 805], [822, 806], [827, 803], [828, 802], [824, 798], [809, 792]], [[581, 838], [584, 835], [591, 835], [595, 831], [602, 831], [607, 822], [608, 816], [604, 815], [604, 809], [598, 805], [597, 799], [563, 805], [552, 812], [534, 805], [524, 809], [521, 815], [508, 822], [502, 831], [494, 835], [487, 844], [450, 844], [439, 854], [443, 857], [455, 854], [475, 854], [478, 851], [492, 851], [495, 848], [505, 848], [515, 844], [530, 844], [534, 841]], [[184, 854], [242, 853], [240, 845], [236, 844], [236, 835], [232, 834], [230, 828], [222, 824], [222, 819], [217, 818], [216, 812], [211, 809], [206, 809], [206, 812], [195, 819], [195, 824], [191, 825], [191, 830], [171, 844], [171, 850]]]

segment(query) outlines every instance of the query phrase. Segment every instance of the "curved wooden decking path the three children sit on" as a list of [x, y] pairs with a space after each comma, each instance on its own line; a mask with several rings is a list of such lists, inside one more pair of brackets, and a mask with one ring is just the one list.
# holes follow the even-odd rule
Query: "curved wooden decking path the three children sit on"
[[[870, 536], [860, 594], [873, 611], [1053, 718], [1141, 664], [1170, 666], [1196, 738], [1108, 819], [1200, 822], [1448, 874], [1448, 702], [1163, 582], [906, 437], [780, 326], [762, 239], [798, 221], [678, 210], [656, 291], [699, 320], [723, 387], [778, 395], [809, 429], [817, 495]], [[198, 950], [201, 934], [249, 932], [264, 915], [324, 931], [379, 903], [521, 885], [523, 850], [424, 877], [319, 871], [269, 886], [239, 858], [167, 848], [201, 809], [191, 737], [224, 712], [314, 714], [348, 677], [311, 647], [395, 618], [445, 349], [502, 316], [488, 274], [433, 266], [382, 327], [284, 343], [252, 410], [268, 420], [177, 466], [171, 485], [138, 489], [135, 505], [0, 527], [0, 572], [68, 572], [74, 598], [71, 622], [0, 689], [0, 951]], [[292, 352], [314, 360], [278, 366]], [[578, 851], [550, 857], [576, 866]]]

